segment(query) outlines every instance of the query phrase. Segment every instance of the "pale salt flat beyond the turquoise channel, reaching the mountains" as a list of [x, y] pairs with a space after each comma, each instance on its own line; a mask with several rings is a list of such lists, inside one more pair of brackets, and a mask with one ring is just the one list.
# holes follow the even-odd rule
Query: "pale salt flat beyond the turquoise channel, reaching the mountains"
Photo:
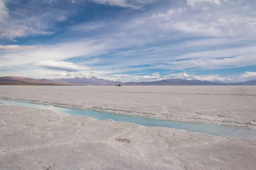
[[0, 97], [156, 119], [256, 128], [255, 86], [0, 86]]

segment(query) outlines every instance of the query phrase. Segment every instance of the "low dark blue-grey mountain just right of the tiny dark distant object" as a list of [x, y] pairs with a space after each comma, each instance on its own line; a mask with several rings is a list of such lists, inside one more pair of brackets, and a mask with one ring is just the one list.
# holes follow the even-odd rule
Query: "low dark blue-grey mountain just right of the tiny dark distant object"
[[210, 82], [187, 79], [165, 79], [154, 82], [125, 82], [122, 85], [226, 85], [221, 82]]

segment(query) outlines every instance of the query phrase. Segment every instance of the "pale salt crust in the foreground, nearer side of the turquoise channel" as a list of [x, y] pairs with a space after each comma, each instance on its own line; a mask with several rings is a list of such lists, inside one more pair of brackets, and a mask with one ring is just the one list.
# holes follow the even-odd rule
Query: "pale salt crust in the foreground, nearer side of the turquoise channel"
[[254, 170], [256, 142], [0, 106], [1, 170]]

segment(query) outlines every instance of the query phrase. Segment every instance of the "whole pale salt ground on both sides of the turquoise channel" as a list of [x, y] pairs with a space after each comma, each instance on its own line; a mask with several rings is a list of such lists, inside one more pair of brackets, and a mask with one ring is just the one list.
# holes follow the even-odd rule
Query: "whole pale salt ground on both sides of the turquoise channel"
[[[0, 86], [2, 99], [255, 128], [253, 86]], [[256, 140], [0, 106], [0, 170], [255, 170]]]

